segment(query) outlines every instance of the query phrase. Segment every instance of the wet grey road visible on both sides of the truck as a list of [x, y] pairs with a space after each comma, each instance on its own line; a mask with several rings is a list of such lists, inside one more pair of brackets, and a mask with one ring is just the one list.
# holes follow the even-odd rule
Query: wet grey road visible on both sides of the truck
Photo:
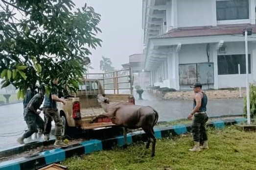
[[[138, 98], [138, 94], [135, 94], [135, 97]], [[142, 98], [144, 98], [144, 100], [136, 100], [136, 104], [154, 107], [159, 113], [159, 121], [186, 118], [187, 114], [190, 113], [192, 109], [192, 101], [161, 100], [147, 93], [142, 94]], [[242, 107], [242, 99], [209, 100], [208, 115], [218, 116], [242, 114]], [[0, 150], [8, 147], [18, 146], [19, 144], [16, 142], [16, 140], [20, 135], [10, 135], [20, 134], [25, 128], [26, 124], [23, 121], [22, 103], [0, 106]], [[33, 138], [32, 141], [34, 141]], [[25, 140], [25, 142], [29, 141]]]

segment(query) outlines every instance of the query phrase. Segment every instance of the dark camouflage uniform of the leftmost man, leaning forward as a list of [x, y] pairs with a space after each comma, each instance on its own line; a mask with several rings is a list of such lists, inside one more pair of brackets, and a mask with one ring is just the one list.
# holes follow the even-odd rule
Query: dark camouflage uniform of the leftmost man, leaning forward
[[23, 134], [23, 138], [28, 138], [34, 132], [37, 132], [37, 127], [40, 129], [44, 129], [44, 120], [34, 111], [30, 110], [30, 105], [33, 106], [34, 110], [37, 111], [41, 104], [43, 103], [44, 97], [42, 94], [36, 94], [29, 101], [27, 107], [24, 112], [24, 120], [26, 121], [28, 131]]

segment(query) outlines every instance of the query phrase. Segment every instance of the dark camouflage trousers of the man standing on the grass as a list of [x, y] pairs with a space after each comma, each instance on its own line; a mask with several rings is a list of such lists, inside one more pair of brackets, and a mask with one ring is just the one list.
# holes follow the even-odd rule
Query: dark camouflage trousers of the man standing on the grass
[[192, 133], [195, 142], [203, 142], [208, 140], [206, 133], [206, 122], [208, 121], [208, 116], [206, 113], [194, 114], [194, 119], [192, 122]]

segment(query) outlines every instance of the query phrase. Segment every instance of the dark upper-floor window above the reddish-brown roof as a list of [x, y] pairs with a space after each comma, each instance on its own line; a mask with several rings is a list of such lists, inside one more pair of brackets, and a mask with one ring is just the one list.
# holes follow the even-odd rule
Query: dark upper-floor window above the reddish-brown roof
[[248, 0], [216, 1], [217, 20], [249, 19]]

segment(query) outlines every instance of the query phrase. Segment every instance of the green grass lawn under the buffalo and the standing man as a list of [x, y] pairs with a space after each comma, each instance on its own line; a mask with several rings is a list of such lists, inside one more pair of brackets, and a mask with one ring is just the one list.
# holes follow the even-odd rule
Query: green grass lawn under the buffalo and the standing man
[[127, 149], [114, 148], [64, 162], [69, 170], [256, 170], [256, 133], [241, 132], [234, 126], [208, 130], [207, 151], [189, 152], [192, 137], [158, 140], [156, 156], [150, 158], [143, 143]]

